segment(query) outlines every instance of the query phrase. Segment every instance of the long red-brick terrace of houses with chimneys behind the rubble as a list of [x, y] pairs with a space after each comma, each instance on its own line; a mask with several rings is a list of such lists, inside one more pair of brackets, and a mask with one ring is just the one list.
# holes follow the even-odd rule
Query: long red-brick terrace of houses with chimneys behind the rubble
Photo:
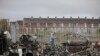
[[50, 30], [54, 32], [89, 33], [100, 29], [100, 18], [24, 18], [17, 21], [18, 33], [32, 33], [37, 30]]

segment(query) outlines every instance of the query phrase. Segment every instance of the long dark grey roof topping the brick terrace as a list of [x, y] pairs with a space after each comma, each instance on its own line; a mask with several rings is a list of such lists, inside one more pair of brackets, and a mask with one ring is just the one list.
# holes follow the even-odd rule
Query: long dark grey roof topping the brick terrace
[[95, 18], [24, 18], [24, 21], [34, 23], [100, 23], [100, 19]]

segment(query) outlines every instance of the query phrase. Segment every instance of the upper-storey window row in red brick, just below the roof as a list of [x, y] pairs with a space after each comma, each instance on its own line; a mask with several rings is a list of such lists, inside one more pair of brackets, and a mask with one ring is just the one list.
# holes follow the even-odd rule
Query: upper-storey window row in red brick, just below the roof
[[[21, 25], [19, 25], [20, 27]], [[97, 28], [99, 27], [100, 28], [100, 24], [79, 24], [79, 23], [76, 23], [76, 24], [71, 24], [71, 23], [68, 23], [68, 24], [63, 24], [63, 23], [59, 23], [59, 24], [56, 24], [56, 23], [26, 23], [24, 24], [23, 27], [30, 27], [30, 28], [42, 28], [42, 27], [47, 27], [47, 28], [52, 28], [52, 27], [57, 27], [57, 28], [60, 28], [60, 27], [75, 27], [75, 28], [84, 28], [84, 27], [90, 27], [90, 28]]]

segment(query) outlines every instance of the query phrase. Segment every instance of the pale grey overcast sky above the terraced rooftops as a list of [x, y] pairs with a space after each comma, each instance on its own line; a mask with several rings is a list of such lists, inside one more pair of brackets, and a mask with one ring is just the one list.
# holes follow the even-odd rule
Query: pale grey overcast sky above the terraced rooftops
[[100, 0], [0, 0], [0, 18], [99, 17]]

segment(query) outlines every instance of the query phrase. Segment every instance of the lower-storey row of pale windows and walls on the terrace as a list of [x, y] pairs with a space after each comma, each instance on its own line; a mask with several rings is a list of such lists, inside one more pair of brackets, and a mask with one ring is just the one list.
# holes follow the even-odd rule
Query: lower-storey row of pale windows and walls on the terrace
[[29, 33], [29, 32], [37, 32], [37, 31], [52, 31], [52, 32], [75, 32], [75, 33], [89, 33], [96, 32], [99, 28], [25, 28], [25, 29], [17, 29], [18, 33]]

